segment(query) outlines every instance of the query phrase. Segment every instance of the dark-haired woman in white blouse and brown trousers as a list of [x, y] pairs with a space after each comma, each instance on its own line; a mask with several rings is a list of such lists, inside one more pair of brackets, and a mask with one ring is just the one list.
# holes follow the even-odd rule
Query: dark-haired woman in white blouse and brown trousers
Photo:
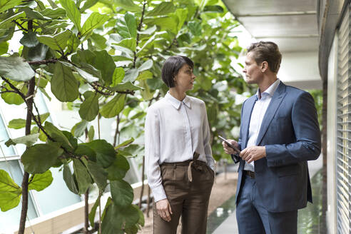
[[169, 88], [148, 108], [145, 155], [148, 184], [153, 191], [153, 233], [206, 233], [214, 161], [205, 103], [186, 96], [193, 88], [193, 61], [171, 56], [162, 68]]

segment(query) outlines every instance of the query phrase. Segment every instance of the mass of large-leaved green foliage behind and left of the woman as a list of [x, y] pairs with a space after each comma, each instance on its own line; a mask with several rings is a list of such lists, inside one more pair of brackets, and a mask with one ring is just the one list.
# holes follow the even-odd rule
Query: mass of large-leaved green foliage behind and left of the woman
[[[99, 214], [99, 233], [137, 233], [143, 214], [132, 205], [133, 189], [123, 178], [129, 170], [127, 158], [143, 156], [143, 147], [133, 142], [143, 136], [147, 106], [167, 91], [160, 79], [163, 62], [174, 54], [193, 59], [197, 82], [189, 94], [205, 101], [212, 136], [230, 136], [240, 121], [233, 93], [250, 92], [233, 68], [241, 51], [233, 33], [238, 22], [218, 0], [49, 0], [49, 4], [37, 0], [0, 4], [1, 98], [11, 105], [24, 103], [27, 109], [26, 118], [9, 122], [9, 128], [25, 128], [26, 135], [6, 142], [26, 145], [21, 156], [24, 180], [16, 185], [0, 171], [4, 194], [0, 208], [16, 207], [22, 195], [19, 233], [24, 233], [28, 190], [49, 186], [50, 168], [59, 167], [73, 193], [87, 199], [92, 184], [99, 190], [86, 214], [85, 233], [88, 220], [95, 228], [107, 186], [111, 197]], [[7, 54], [14, 31], [23, 34], [21, 48]], [[49, 113], [39, 113], [34, 96], [41, 91], [52, 98], [46, 93], [49, 88], [55, 98], [78, 111], [81, 121], [71, 131], [47, 121]], [[102, 117], [116, 119], [113, 143], [100, 139], [99, 130], [91, 126]], [[86, 142], [81, 142], [84, 136]], [[227, 157], [219, 140], [212, 137], [211, 143], [216, 160]]]

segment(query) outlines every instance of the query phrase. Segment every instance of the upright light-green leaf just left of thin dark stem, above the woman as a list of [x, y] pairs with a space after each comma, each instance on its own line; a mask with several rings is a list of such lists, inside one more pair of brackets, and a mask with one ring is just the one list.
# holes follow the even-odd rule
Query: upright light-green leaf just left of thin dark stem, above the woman
[[124, 19], [118, 19], [116, 26], [123, 39], [136, 39], [136, 18], [133, 14], [126, 12]]

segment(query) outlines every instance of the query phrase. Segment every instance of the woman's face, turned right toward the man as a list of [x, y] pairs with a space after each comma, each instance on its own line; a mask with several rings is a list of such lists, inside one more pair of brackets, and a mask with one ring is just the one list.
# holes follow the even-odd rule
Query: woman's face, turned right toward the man
[[174, 77], [175, 88], [184, 92], [191, 90], [193, 89], [195, 78], [193, 69], [188, 64], [184, 64]]

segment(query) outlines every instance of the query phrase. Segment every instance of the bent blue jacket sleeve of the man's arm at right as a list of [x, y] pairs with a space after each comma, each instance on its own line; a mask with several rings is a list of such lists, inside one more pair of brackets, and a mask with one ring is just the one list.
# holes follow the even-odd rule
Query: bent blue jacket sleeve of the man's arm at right
[[297, 96], [292, 106], [291, 120], [296, 142], [283, 145], [266, 145], [270, 167], [286, 166], [300, 161], [315, 160], [320, 156], [320, 128], [315, 102], [310, 93]]

